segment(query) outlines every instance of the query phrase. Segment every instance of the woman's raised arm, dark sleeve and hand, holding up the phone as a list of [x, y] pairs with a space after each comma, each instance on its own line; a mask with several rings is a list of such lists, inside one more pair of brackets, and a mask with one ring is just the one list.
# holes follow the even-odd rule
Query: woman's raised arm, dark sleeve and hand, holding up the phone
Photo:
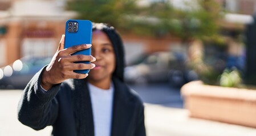
[[[70, 78], [83, 79], [88, 74], [75, 73], [74, 70], [92, 69], [94, 64], [74, 63], [79, 61], [94, 62], [92, 56], [72, 55], [80, 50], [88, 49], [91, 44], [75, 45], [64, 49], [64, 38], [47, 67], [44, 67], [27, 84], [18, 105], [18, 119], [35, 130], [54, 124], [58, 116], [58, 101], [55, 96], [60, 84]], [[44, 89], [43, 89], [44, 88]]]

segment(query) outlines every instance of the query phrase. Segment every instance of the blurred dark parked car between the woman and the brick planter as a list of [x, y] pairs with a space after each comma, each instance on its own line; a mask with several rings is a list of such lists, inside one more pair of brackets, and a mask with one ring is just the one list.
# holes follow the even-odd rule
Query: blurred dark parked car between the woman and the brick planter
[[188, 69], [181, 53], [156, 52], [143, 57], [140, 63], [125, 67], [127, 83], [169, 82], [172, 86], [181, 87], [198, 78], [193, 70]]

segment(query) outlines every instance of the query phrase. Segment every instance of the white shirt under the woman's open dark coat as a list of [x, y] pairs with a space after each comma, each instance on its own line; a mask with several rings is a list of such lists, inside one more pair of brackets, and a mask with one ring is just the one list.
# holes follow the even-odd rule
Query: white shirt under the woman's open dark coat
[[95, 136], [110, 136], [112, 124], [113, 86], [103, 90], [88, 83], [92, 113], [94, 116]]

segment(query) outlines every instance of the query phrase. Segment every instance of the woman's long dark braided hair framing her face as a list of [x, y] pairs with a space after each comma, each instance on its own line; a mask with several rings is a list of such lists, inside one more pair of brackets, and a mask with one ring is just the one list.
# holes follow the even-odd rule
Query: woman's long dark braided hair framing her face
[[95, 30], [103, 31], [111, 41], [116, 59], [116, 67], [113, 76], [124, 81], [124, 47], [119, 33], [116, 32], [114, 27], [104, 23], [92, 23], [92, 31]]

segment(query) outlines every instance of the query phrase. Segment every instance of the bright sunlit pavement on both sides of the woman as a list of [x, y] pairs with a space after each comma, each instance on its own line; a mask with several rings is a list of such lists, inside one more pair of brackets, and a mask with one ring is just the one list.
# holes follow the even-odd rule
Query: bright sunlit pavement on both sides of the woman
[[[0, 135], [45, 136], [51, 126], [35, 131], [17, 120], [21, 90], [0, 90]], [[190, 118], [186, 109], [145, 103], [145, 125], [148, 136], [256, 136], [256, 129]]]

